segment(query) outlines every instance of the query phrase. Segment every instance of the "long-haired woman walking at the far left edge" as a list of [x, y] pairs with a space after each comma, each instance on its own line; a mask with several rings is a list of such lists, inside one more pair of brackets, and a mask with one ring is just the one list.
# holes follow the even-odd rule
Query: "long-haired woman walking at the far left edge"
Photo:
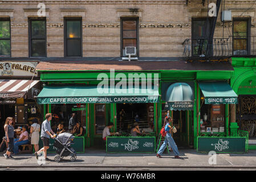
[[3, 128], [5, 129], [5, 139], [9, 144], [6, 153], [3, 154], [3, 156], [5, 156], [6, 159], [13, 158], [13, 156], [11, 156], [11, 152], [13, 152], [13, 148], [14, 148], [14, 143], [13, 143], [14, 127], [12, 123], [13, 123], [13, 118], [8, 117], [6, 118], [5, 126], [3, 126]]

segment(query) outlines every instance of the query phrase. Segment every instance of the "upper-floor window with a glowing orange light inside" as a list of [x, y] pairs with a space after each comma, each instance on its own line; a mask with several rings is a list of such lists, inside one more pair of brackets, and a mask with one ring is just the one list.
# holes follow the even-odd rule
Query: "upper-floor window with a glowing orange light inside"
[[82, 20], [65, 19], [65, 55], [82, 57]]

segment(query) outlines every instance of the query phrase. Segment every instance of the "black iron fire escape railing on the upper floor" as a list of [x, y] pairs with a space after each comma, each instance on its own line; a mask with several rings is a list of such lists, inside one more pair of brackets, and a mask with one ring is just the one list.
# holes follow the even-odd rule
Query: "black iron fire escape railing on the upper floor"
[[256, 36], [186, 39], [184, 56], [188, 59], [225, 59], [236, 56], [256, 56]]

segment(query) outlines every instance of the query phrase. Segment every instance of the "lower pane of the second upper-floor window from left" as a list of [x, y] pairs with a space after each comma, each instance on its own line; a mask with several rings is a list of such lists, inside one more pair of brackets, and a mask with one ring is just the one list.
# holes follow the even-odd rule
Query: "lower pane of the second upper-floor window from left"
[[33, 57], [46, 56], [46, 41], [45, 40], [32, 40], [31, 41], [31, 56], [33, 56]]

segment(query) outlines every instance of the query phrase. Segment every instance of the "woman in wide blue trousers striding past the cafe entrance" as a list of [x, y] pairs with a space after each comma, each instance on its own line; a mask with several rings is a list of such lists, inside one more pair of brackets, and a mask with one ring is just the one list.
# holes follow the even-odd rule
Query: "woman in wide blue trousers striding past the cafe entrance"
[[162, 143], [162, 146], [160, 147], [159, 151], [157, 152], [157, 158], [161, 158], [162, 152], [164, 152], [167, 143], [169, 143], [169, 146], [172, 147], [172, 150], [174, 152], [174, 158], [175, 159], [180, 159], [180, 153], [178, 152], [178, 147], [176, 145], [176, 143], [174, 142], [172, 135], [171, 135], [171, 131], [173, 130], [173, 128], [170, 126], [169, 122], [172, 122], [172, 118], [170, 117], [166, 117], [165, 121], [164, 121], [164, 129], [166, 131], [166, 137], [164, 140], [164, 143]]

